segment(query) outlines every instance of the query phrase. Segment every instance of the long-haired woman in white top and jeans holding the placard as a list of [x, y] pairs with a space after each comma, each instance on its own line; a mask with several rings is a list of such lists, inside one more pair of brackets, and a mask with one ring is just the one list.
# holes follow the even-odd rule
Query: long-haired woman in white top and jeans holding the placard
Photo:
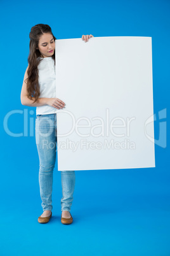
[[[82, 35], [85, 42], [92, 35]], [[55, 36], [51, 27], [37, 24], [30, 34], [29, 66], [25, 71], [21, 91], [21, 103], [36, 106], [36, 145], [39, 154], [39, 187], [43, 213], [39, 223], [47, 223], [52, 216], [53, 169], [56, 160], [56, 110], [65, 103], [56, 98], [55, 85]], [[49, 146], [55, 145], [55, 146]], [[62, 224], [73, 221], [70, 209], [75, 187], [75, 171], [61, 171]]]

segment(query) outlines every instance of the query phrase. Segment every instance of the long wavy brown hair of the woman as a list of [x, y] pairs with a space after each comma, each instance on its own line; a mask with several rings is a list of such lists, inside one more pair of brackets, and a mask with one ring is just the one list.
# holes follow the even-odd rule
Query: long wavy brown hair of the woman
[[[39, 52], [39, 49], [36, 49], [38, 47], [39, 43], [39, 38], [42, 36], [44, 33], [49, 33], [53, 36], [54, 39], [55, 36], [53, 35], [51, 31], [51, 27], [46, 24], [37, 24], [34, 25], [30, 29], [30, 51], [29, 51], [29, 57], [28, 57], [28, 62], [29, 62], [29, 68], [28, 68], [28, 78], [25, 79], [27, 80], [27, 97], [29, 99], [32, 99], [32, 97], [35, 98], [34, 103], [37, 101], [37, 99], [40, 96], [40, 89], [39, 89], [39, 73], [38, 73], [38, 64], [41, 62], [42, 59], [37, 59], [38, 57], [41, 57], [41, 53]], [[55, 60], [55, 51], [54, 54], [51, 56]]]

